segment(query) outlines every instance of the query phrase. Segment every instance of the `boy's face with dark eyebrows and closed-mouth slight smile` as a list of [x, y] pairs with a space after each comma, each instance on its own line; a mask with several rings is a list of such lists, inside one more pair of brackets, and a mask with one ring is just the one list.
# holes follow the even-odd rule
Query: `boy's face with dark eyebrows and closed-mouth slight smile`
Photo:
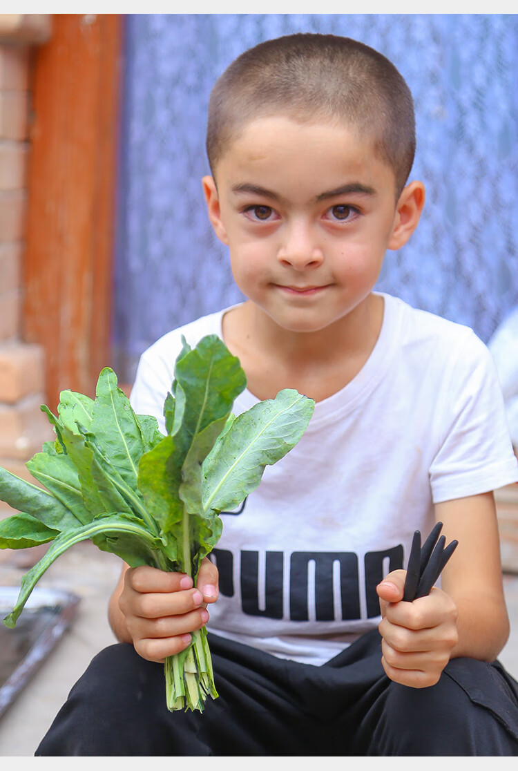
[[334, 123], [251, 121], [204, 189], [238, 287], [292, 332], [317, 332], [365, 305], [386, 249], [410, 235], [392, 169]]

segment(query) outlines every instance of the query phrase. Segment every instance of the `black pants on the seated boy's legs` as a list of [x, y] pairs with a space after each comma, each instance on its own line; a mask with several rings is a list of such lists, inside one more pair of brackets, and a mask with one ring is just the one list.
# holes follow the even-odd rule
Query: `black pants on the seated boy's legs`
[[99, 653], [37, 756], [518, 756], [518, 684], [454, 659], [432, 688], [389, 680], [372, 631], [330, 662], [284, 661], [210, 635], [220, 697], [168, 712], [163, 666]]

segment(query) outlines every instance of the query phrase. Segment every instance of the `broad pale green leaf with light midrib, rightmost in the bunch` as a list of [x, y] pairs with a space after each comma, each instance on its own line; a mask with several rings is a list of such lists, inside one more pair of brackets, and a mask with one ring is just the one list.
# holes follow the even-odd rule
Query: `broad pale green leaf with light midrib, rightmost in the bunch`
[[232, 510], [261, 482], [265, 466], [281, 460], [301, 439], [313, 399], [284, 389], [234, 420], [204, 462], [204, 510]]

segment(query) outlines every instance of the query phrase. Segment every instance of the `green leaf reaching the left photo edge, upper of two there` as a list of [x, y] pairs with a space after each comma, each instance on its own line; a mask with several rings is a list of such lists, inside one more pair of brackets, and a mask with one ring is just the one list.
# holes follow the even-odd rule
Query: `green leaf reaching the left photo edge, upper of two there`
[[0, 467], [0, 500], [13, 509], [27, 512], [47, 527], [64, 530], [75, 527], [78, 520], [60, 500], [48, 490], [22, 480]]

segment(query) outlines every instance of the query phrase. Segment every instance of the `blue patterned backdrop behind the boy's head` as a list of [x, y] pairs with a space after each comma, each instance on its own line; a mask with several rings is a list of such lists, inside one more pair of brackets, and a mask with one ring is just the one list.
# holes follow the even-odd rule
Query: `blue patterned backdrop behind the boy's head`
[[419, 230], [378, 288], [485, 341], [518, 305], [516, 15], [129, 15], [116, 255], [115, 360], [133, 379], [169, 329], [241, 298], [200, 179], [210, 89], [257, 42], [333, 32], [388, 56], [415, 99]]

